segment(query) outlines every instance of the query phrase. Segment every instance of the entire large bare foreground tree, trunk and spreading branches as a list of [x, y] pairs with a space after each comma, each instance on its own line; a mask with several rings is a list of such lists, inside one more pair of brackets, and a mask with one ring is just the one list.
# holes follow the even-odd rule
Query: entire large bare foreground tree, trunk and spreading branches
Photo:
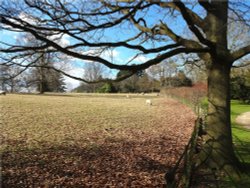
[[[2, 42], [0, 52], [5, 64], [29, 67], [32, 62], [20, 61], [30, 55], [30, 51], [57, 51], [83, 62], [98, 62], [110, 69], [125, 70], [127, 74], [118, 77], [117, 81], [167, 58], [179, 54], [197, 54], [205, 62], [208, 74], [208, 134], [204, 158], [209, 153], [206, 162], [211, 168], [231, 170], [239, 163], [232, 144], [230, 70], [237, 60], [250, 53], [250, 45], [248, 39], [241, 39], [248, 43], [239, 43], [237, 48], [230, 49], [228, 24], [244, 22], [249, 33], [249, 11], [247, 1], [228, 0], [197, 0], [194, 3], [180, 0], [96, 0], [94, 3], [3, 0], [0, 5], [1, 29], [30, 33], [41, 45], [31, 47]], [[179, 23], [186, 25], [193, 36], [184, 36], [180, 27], [173, 25], [176, 20], [181, 20]], [[72, 42], [61, 45], [55, 40], [63, 36], [69, 37]], [[136, 53], [134, 57], [141, 54], [152, 56], [139, 64], [133, 61], [121, 64], [113, 59], [84, 53], [97, 48], [127, 49]], [[89, 82], [66, 72], [63, 74]]]

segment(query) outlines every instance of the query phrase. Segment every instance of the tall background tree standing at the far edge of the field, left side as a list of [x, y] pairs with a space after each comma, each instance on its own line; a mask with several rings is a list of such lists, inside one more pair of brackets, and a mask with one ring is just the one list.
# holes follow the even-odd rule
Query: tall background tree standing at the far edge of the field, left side
[[[30, 50], [27, 51], [26, 60], [32, 62], [31, 66], [28, 67], [26, 73], [22, 73], [18, 78], [19, 82], [22, 83], [21, 87], [25, 87], [27, 90], [31, 87], [35, 87], [40, 93], [44, 92], [64, 92], [66, 87], [62, 73], [55, 71], [55, 62], [61, 63], [61, 57], [56, 52], [50, 52], [48, 50], [40, 50], [36, 53], [32, 50], [32, 47], [40, 46], [42, 43], [35, 40], [35, 38], [25, 33], [16, 39], [17, 45], [30, 46]], [[58, 63], [59, 62], [59, 63]], [[16, 69], [21, 70], [21, 67], [26, 67], [25, 64], [21, 66], [15, 65]], [[47, 67], [47, 68], [45, 68]], [[58, 66], [59, 67], [59, 66]], [[10, 70], [13, 67], [9, 67]], [[13, 69], [14, 70], [14, 69]], [[13, 79], [18, 74], [16, 70], [15, 74], [12, 75]], [[10, 79], [10, 81], [13, 79]], [[10, 82], [9, 81], [9, 82]]]

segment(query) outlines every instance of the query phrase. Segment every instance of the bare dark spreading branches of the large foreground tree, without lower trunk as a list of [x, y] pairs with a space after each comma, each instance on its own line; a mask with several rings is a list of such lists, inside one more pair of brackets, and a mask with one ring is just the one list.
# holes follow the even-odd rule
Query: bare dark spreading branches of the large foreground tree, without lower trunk
[[[1, 41], [1, 52], [8, 53], [8, 56], [1, 55], [1, 58], [3, 62], [26, 68], [32, 66], [32, 62], [23, 62], [25, 57], [49, 49], [48, 53], [59, 51], [80, 61], [99, 62], [111, 69], [131, 70], [133, 73], [181, 53], [198, 53], [202, 59], [206, 59], [208, 54], [217, 53], [216, 49], [221, 50], [216, 45], [216, 37], [209, 37], [213, 32], [209, 25], [213, 21], [213, 8], [222, 10], [226, 4], [227, 1], [194, 1], [184, 4], [181, 1], [160, 0], [3, 0], [0, 5], [1, 29], [29, 33], [39, 41], [39, 45], [16, 45]], [[228, 23], [244, 21], [249, 25], [249, 15], [244, 14], [249, 8], [247, 2], [232, 1], [228, 9], [227, 6], [224, 8], [225, 16], [228, 12]], [[170, 19], [183, 26], [174, 26], [169, 22]], [[178, 31], [184, 28], [191, 33], [191, 37], [187, 38]], [[227, 34], [224, 33], [224, 36]], [[70, 42], [58, 43], [63, 37], [68, 37]], [[227, 40], [225, 37], [221, 40]], [[249, 39], [241, 43], [242, 48], [224, 50], [225, 58], [229, 56], [234, 62], [248, 54], [250, 47], [247, 43]], [[107, 49], [132, 50], [134, 57], [140, 54], [151, 56], [145, 62], [129, 65], [130, 62], [119, 63], [103, 58], [100, 54]], [[68, 75], [66, 72], [64, 74]], [[75, 78], [73, 75], [71, 77]], [[83, 78], [77, 79], [89, 82]]]

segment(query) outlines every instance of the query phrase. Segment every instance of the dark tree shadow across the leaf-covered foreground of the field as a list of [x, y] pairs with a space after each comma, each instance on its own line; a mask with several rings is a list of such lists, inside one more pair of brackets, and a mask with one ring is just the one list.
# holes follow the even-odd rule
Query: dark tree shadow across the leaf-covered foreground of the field
[[18, 144], [19, 149], [2, 153], [3, 188], [164, 187], [164, 174], [173, 165], [166, 156], [179, 155], [125, 140], [85, 147], [43, 143], [36, 149]]

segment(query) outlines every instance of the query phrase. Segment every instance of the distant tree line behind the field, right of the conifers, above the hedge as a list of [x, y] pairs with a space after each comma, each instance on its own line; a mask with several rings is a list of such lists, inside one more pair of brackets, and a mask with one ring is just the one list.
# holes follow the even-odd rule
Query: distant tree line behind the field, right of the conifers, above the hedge
[[[166, 67], [166, 65], [168, 67]], [[172, 68], [170, 66], [172, 66]], [[103, 69], [99, 64], [88, 64], [85, 71], [87, 73], [84, 75], [84, 78], [90, 81], [103, 77]], [[125, 74], [127, 74], [127, 71], [119, 71], [116, 78]], [[184, 71], [177, 70], [175, 63], [171, 62], [169, 65], [165, 62], [158, 67], [137, 72], [121, 82], [82, 83], [73, 91], [89, 93], [149, 93], [159, 92], [161, 88], [181, 86], [192, 86], [192, 80], [186, 76]]]

